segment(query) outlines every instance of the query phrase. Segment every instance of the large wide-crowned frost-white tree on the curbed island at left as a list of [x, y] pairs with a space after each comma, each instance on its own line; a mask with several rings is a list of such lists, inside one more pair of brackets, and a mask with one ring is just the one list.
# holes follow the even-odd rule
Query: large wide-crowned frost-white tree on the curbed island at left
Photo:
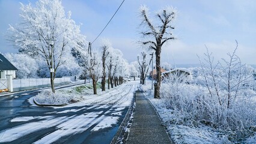
[[39, 0], [36, 6], [31, 4], [20, 7], [20, 23], [9, 28], [9, 40], [19, 48], [20, 53], [41, 57], [48, 65], [52, 91], [56, 71], [64, 55], [76, 45], [80, 34], [79, 26], [71, 19], [71, 12], [65, 14], [59, 0]]

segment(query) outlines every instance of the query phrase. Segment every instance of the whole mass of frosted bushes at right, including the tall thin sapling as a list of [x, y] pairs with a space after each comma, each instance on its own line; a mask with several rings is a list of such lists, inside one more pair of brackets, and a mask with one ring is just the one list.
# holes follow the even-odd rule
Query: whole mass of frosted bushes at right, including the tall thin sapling
[[231, 142], [255, 133], [252, 69], [242, 65], [234, 53], [228, 56], [230, 59], [215, 65], [207, 50], [196, 83], [189, 85], [179, 76], [165, 80], [160, 93], [166, 99], [166, 107], [172, 110], [171, 124], [204, 124], [220, 131]]

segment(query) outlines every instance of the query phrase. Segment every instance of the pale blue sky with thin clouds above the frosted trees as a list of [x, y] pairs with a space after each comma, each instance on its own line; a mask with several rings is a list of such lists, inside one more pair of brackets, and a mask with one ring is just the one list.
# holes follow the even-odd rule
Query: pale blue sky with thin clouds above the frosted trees
[[[32, 4], [34, 0], [29, 0]], [[28, 0], [0, 0], [0, 52], [17, 52], [5, 40], [8, 24], [19, 22], [19, 2], [28, 4]], [[82, 23], [81, 32], [88, 41], [97, 37], [108, 20], [117, 10], [122, 0], [62, 0], [66, 11], [72, 11], [72, 19]], [[177, 40], [165, 44], [162, 49], [162, 61], [174, 64], [198, 64], [197, 54], [203, 56], [205, 44], [216, 59], [225, 58], [239, 43], [237, 55], [243, 63], [256, 64], [256, 1], [184, 1], [184, 0], [126, 0], [100, 38], [108, 38], [112, 46], [124, 53], [129, 62], [136, 61], [142, 50], [139, 40], [138, 9], [141, 5], [154, 12], [170, 5], [177, 9], [174, 22], [174, 35]], [[100, 47], [100, 38], [93, 48]], [[174, 60], [173, 60], [174, 59]]]

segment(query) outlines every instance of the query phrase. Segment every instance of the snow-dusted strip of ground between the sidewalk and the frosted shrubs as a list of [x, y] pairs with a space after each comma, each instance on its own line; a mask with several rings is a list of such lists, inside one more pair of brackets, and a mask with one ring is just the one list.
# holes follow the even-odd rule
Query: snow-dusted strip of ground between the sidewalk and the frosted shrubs
[[162, 99], [154, 99], [153, 95], [149, 95], [147, 98], [157, 110], [163, 124], [166, 124], [168, 132], [175, 143], [210, 144], [224, 142], [224, 140], [218, 137], [218, 133], [213, 131], [210, 127], [189, 127], [180, 124], [170, 124], [170, 121], [173, 121], [173, 116], [171, 115], [172, 110], [166, 109], [165, 101]]

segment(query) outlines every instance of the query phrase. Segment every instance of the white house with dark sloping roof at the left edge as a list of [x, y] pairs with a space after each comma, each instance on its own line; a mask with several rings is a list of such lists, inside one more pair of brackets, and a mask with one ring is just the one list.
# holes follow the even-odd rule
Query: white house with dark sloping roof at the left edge
[[16, 78], [16, 71], [18, 69], [11, 64], [1, 53], [0, 53], [0, 79], [7, 79], [7, 75], [13, 75]]

